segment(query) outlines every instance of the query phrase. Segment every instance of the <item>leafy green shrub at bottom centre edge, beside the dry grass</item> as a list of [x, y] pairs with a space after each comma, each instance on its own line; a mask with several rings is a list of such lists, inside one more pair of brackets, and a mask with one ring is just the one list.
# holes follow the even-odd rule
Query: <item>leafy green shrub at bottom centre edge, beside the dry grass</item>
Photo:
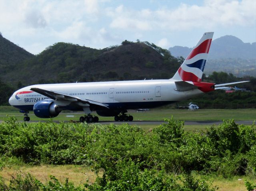
[[[181, 183], [179, 183], [181, 182]], [[132, 190], [132, 191], [214, 191], [205, 180], [194, 179], [186, 175], [185, 179], [167, 175], [164, 171], [145, 169], [140, 171], [140, 165], [134, 161], [120, 160], [116, 163], [116, 173], [109, 175], [108, 169], [102, 177], [98, 177], [92, 185], [85, 184], [89, 191], [109, 190]]]

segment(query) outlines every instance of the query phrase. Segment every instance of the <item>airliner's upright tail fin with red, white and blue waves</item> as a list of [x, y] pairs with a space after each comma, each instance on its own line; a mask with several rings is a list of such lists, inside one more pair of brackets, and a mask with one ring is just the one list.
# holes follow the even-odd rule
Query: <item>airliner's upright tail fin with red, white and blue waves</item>
[[205, 32], [192, 49], [188, 57], [182, 63], [178, 71], [172, 77], [178, 81], [200, 82], [204, 71], [204, 66], [208, 58], [208, 52], [212, 42], [213, 32]]

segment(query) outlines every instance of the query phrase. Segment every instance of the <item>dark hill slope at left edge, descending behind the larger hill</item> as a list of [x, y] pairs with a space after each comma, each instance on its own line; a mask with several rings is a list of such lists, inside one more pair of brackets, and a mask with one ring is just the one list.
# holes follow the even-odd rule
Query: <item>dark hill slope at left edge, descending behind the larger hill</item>
[[0, 33], [0, 76], [12, 72], [17, 65], [32, 57], [33, 54], [4, 38]]

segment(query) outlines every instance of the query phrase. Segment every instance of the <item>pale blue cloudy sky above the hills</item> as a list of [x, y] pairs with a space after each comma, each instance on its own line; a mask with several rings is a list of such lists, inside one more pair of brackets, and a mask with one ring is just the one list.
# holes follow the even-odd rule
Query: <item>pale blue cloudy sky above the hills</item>
[[30, 53], [57, 42], [102, 49], [193, 47], [204, 32], [256, 42], [256, 0], [0, 0], [0, 32]]

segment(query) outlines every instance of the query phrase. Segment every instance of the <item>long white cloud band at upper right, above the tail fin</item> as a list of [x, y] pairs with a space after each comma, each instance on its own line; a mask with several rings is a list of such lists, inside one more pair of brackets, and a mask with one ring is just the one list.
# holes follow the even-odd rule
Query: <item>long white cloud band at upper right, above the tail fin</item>
[[255, 0], [207, 0], [202, 6], [180, 4], [175, 9], [130, 10], [118, 6], [108, 13], [110, 27], [126, 30], [191, 30], [216, 26], [250, 26], [255, 24]]

